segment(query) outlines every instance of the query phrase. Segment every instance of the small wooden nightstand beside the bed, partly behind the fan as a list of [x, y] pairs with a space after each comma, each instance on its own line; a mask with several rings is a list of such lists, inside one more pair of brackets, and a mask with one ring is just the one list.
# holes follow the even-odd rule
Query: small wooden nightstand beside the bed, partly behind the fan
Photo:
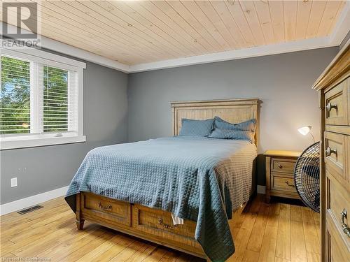
[[294, 166], [301, 152], [267, 150], [266, 202], [271, 196], [300, 199], [294, 185]]

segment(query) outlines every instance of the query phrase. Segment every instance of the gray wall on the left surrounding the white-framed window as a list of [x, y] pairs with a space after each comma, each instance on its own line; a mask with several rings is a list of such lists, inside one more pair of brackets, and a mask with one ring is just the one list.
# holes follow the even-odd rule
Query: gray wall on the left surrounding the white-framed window
[[65, 187], [90, 149], [127, 141], [127, 74], [87, 63], [84, 134], [86, 143], [1, 151], [1, 204]]

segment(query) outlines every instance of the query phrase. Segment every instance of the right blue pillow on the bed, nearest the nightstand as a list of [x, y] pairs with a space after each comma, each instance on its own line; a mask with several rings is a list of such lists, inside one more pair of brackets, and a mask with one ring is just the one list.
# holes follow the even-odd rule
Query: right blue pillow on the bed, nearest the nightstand
[[215, 129], [211, 132], [209, 138], [248, 140], [253, 143], [255, 125], [255, 119], [241, 122], [239, 124], [231, 124], [220, 117], [215, 117]]

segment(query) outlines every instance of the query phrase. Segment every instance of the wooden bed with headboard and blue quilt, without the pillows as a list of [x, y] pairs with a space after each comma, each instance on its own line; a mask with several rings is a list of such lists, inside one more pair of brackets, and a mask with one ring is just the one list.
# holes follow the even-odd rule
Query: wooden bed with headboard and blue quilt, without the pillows
[[[235, 251], [232, 212], [255, 187], [258, 99], [173, 102], [172, 138], [98, 147], [85, 157], [66, 201], [85, 220], [188, 254], [228, 259]], [[181, 119], [256, 119], [248, 141], [179, 137]], [[174, 217], [183, 224], [173, 223]], [[232, 219], [233, 217], [233, 219]], [[232, 228], [231, 228], [232, 229]]]

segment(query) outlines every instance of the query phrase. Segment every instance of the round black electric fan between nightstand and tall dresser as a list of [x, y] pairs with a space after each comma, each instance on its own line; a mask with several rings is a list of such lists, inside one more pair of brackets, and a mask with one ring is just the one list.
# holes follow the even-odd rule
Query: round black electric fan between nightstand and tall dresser
[[297, 159], [294, 182], [302, 202], [320, 212], [320, 143], [307, 147]]

